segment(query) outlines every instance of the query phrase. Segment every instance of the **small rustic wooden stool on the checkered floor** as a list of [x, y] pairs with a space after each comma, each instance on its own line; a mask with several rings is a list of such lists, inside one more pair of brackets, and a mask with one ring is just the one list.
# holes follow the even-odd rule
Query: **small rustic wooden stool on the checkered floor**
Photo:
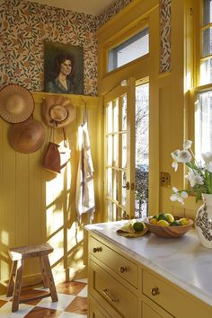
[[[19, 304], [22, 304], [23, 301], [31, 301], [44, 297], [51, 296], [53, 302], [57, 302], [57, 291], [55, 287], [54, 278], [51, 272], [49, 256], [50, 252], [53, 252], [54, 249], [49, 245], [49, 243], [40, 244], [40, 245], [31, 245], [31, 246], [22, 246], [14, 247], [9, 249], [9, 255], [13, 261], [10, 280], [7, 287], [6, 296], [10, 297], [13, 295], [13, 305], [12, 312], [18, 310]], [[20, 299], [21, 288], [22, 288], [22, 268], [24, 260], [31, 259], [34, 257], [40, 258], [40, 269], [43, 278], [44, 287], [49, 287], [49, 293], [46, 295], [35, 296], [31, 298]]]

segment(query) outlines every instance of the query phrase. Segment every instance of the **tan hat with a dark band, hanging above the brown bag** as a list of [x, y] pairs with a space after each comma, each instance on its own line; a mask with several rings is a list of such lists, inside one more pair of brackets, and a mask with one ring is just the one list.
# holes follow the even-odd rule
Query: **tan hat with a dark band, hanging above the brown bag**
[[49, 127], [63, 128], [75, 120], [75, 107], [62, 96], [48, 96], [42, 103], [42, 117]]

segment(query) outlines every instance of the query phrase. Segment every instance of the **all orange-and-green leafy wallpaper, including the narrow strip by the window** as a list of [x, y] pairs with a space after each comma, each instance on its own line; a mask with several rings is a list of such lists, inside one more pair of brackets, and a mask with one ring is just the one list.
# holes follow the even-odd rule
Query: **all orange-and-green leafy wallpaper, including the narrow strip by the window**
[[[97, 95], [96, 30], [134, 0], [117, 0], [98, 17], [25, 0], [0, 0], [0, 88], [43, 91], [44, 40], [84, 48], [84, 94]], [[171, 67], [171, 0], [161, 0], [161, 72]]]

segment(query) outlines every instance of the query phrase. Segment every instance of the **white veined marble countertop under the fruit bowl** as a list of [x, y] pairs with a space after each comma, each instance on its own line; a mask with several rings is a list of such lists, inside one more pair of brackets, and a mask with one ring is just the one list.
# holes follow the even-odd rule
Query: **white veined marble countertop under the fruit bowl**
[[200, 245], [195, 229], [173, 239], [150, 233], [127, 238], [116, 233], [125, 222], [86, 225], [85, 229], [99, 234], [139, 263], [212, 305], [212, 249]]

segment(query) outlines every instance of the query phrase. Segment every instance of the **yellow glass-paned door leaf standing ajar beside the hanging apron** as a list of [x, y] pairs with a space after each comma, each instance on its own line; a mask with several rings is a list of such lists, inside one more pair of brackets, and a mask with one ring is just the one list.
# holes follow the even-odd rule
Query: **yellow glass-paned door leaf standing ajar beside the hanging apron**
[[104, 99], [104, 198], [106, 220], [131, 218], [135, 210], [135, 79]]

